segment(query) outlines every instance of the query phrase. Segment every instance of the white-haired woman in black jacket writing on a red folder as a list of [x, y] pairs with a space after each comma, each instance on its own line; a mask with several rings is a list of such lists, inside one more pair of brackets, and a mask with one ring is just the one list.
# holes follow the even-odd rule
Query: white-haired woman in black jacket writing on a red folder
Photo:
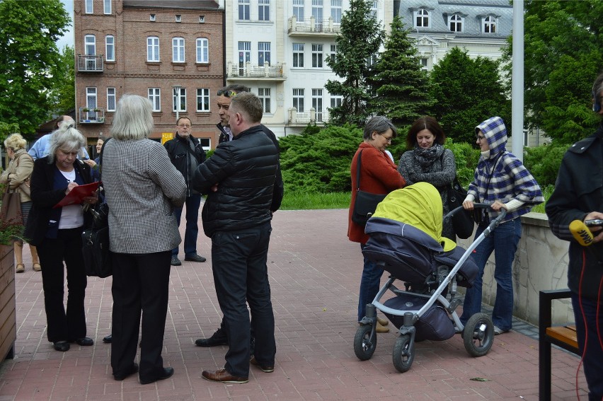
[[[50, 153], [36, 159], [31, 175], [32, 207], [25, 238], [38, 247], [44, 289], [48, 340], [57, 351], [69, 350], [69, 343], [94, 344], [86, 337], [86, 270], [81, 253], [81, 233], [91, 221], [81, 204], [58, 207], [74, 187], [92, 181], [88, 165], [77, 159], [86, 139], [75, 128], [64, 126], [52, 134]], [[93, 204], [95, 197], [84, 198]], [[64, 266], [67, 267], [67, 309], [64, 307]]]

